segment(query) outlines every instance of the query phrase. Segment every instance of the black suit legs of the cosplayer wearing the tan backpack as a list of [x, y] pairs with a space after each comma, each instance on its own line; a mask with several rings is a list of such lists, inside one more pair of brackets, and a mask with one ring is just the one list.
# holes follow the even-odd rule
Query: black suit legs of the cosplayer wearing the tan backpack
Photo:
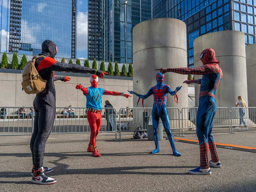
[[34, 99], [34, 132], [30, 140], [30, 150], [35, 169], [43, 166], [45, 143], [52, 131], [56, 113], [55, 95], [37, 94]]

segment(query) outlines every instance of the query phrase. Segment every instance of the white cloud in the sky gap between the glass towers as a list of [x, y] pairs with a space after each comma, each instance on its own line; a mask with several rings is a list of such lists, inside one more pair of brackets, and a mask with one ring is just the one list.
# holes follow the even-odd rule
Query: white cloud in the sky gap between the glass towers
[[77, 16], [77, 49], [87, 50], [87, 12], [78, 12]]

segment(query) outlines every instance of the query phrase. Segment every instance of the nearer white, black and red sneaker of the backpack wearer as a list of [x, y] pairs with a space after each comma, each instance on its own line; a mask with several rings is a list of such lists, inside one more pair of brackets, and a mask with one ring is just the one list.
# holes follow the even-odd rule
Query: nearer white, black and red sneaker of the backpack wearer
[[54, 178], [51, 178], [45, 174], [44, 167], [34, 171], [31, 181], [41, 185], [50, 185], [57, 182]]

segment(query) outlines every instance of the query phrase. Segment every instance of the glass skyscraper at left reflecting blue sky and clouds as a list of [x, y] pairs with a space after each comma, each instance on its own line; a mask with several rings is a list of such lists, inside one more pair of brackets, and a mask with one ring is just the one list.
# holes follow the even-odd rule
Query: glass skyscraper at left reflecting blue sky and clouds
[[9, 52], [39, 54], [45, 39], [56, 57], [76, 58], [76, 0], [10, 0]]

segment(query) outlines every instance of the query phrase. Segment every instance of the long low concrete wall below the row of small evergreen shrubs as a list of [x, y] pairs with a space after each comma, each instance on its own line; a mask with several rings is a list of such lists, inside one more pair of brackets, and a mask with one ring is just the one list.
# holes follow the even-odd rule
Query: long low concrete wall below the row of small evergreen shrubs
[[[35, 94], [26, 94], [22, 91], [21, 86], [21, 71], [14, 69], [0, 69], [0, 106], [33, 106]], [[56, 76], [69, 76], [69, 82], [55, 82], [56, 88], [56, 107], [72, 105], [73, 107], [86, 107], [86, 97], [82, 91], [76, 90], [76, 84], [82, 84], [85, 87], [91, 86], [90, 74], [76, 73], [61, 73], [56, 72]], [[120, 76], [105, 76], [104, 79], [99, 79], [98, 87], [110, 91], [118, 91], [128, 93], [127, 90], [132, 90], [132, 78]], [[102, 106], [105, 101], [113, 105], [114, 108], [126, 108], [133, 106], [133, 98], [126, 99], [121, 96], [103, 95]]]

